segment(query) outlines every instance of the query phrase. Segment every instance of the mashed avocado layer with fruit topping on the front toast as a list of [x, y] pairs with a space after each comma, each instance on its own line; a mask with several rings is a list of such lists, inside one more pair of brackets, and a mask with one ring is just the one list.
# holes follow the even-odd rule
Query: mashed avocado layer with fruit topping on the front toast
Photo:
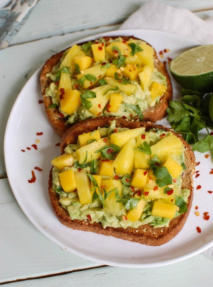
[[112, 121], [79, 136], [52, 164], [53, 189], [72, 220], [168, 227], [187, 211], [184, 147], [172, 132], [116, 128]]

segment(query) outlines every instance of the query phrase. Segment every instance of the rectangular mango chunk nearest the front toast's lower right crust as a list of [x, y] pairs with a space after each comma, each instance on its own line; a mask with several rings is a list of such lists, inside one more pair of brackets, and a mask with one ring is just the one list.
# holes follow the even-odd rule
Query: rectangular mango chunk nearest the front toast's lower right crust
[[176, 208], [177, 206], [174, 204], [155, 201], [151, 214], [172, 219], [175, 216]]

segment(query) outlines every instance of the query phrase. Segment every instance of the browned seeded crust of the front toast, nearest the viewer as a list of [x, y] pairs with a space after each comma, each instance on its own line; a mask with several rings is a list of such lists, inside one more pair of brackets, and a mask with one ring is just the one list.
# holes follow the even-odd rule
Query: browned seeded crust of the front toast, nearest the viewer
[[[116, 126], [126, 127], [126, 128], [139, 128], [145, 127], [146, 130], [152, 128], [161, 128], [165, 131], [171, 131], [169, 128], [164, 128], [161, 125], [154, 125], [147, 122], [139, 121], [126, 121], [125, 119], [115, 118], [115, 117], [101, 117], [98, 119], [88, 119], [81, 121], [73, 125], [69, 130], [65, 132], [61, 141], [61, 154], [64, 152], [64, 148], [67, 143], [76, 143], [78, 135], [82, 132], [90, 132], [98, 127], [104, 127], [105, 125], [110, 125], [112, 120], [116, 119]], [[173, 132], [173, 131], [172, 131]], [[182, 213], [180, 216], [173, 218], [170, 221], [169, 227], [163, 228], [153, 228], [150, 225], [143, 225], [137, 229], [132, 227], [127, 227], [123, 229], [122, 227], [113, 228], [106, 227], [105, 229], [101, 226], [101, 223], [90, 223], [89, 220], [71, 220], [68, 211], [64, 209], [59, 202], [59, 195], [52, 189], [52, 169], [49, 176], [49, 196], [51, 204], [55, 214], [57, 215], [59, 221], [72, 229], [78, 229], [83, 231], [95, 232], [98, 234], [103, 234], [107, 236], [113, 236], [116, 238], [121, 238], [124, 240], [138, 242], [145, 245], [159, 246], [174, 238], [182, 229], [185, 221], [188, 217], [189, 211], [192, 206], [193, 199], [193, 179], [195, 169], [195, 157], [190, 146], [183, 140], [183, 138], [174, 133], [177, 137], [181, 139], [183, 145], [185, 146], [185, 166], [186, 170], [182, 175], [182, 186], [181, 188], [190, 189], [190, 196], [188, 198], [187, 209], [188, 212]]]

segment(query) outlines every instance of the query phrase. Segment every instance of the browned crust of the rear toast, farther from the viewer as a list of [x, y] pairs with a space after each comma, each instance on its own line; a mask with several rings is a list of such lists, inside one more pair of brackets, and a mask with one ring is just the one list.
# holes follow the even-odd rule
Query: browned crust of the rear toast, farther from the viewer
[[[128, 41], [130, 38], [141, 40], [134, 36], [113, 36], [110, 38], [116, 39], [118, 37], [122, 37], [122, 39], [125, 41]], [[84, 44], [84, 43], [80, 43], [80, 44]], [[60, 136], [62, 136], [63, 133], [68, 128], [70, 128], [71, 124], [66, 124], [67, 120], [60, 116], [58, 107], [55, 107], [53, 109], [48, 109], [48, 107], [52, 104], [52, 100], [50, 96], [48, 97], [45, 96], [45, 91], [46, 91], [46, 88], [49, 87], [50, 83], [52, 82], [52, 80], [50, 80], [50, 78], [48, 78], [46, 74], [50, 73], [52, 71], [52, 68], [55, 65], [57, 65], [57, 63], [60, 61], [64, 52], [65, 50], [49, 58], [45, 62], [43, 69], [41, 71], [41, 75], [40, 75], [41, 92], [43, 96], [45, 111], [46, 111], [46, 114], [48, 116], [51, 126]], [[165, 66], [159, 60], [155, 50], [154, 50], [154, 66], [159, 72], [161, 72], [166, 77], [167, 91], [163, 94], [159, 103], [156, 103], [154, 107], [148, 107], [145, 111], [143, 111], [143, 121], [151, 121], [152, 123], [155, 123], [156, 121], [161, 120], [163, 119], [163, 117], [165, 117], [166, 109], [169, 106], [169, 101], [172, 99], [172, 84], [171, 84], [170, 77], [168, 75], [168, 72]], [[137, 119], [137, 118], [138, 117], [134, 119]]]

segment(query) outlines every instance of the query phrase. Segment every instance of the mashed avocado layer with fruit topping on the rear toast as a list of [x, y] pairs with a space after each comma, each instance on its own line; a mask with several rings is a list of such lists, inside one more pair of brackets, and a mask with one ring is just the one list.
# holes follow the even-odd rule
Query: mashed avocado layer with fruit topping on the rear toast
[[167, 90], [166, 78], [154, 67], [154, 49], [142, 40], [103, 37], [73, 45], [51, 73], [46, 89], [51, 107], [73, 124], [98, 116], [143, 119]]

